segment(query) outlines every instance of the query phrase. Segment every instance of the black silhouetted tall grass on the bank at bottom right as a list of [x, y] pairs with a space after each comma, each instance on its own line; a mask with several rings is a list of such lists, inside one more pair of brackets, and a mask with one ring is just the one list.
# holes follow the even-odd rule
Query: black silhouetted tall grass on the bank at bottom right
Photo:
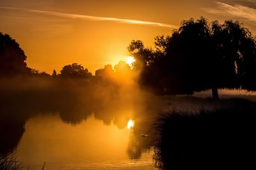
[[157, 120], [154, 159], [160, 169], [256, 169], [255, 104], [172, 110]]

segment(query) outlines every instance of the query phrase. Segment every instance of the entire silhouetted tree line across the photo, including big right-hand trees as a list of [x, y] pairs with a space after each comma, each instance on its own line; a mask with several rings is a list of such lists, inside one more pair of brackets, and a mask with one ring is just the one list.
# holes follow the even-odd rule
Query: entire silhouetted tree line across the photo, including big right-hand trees
[[[80, 64], [64, 66], [60, 74], [65, 78], [108, 79], [109, 75], [140, 71], [141, 88], [155, 94], [193, 94], [218, 89], [256, 90], [256, 38], [232, 20], [209, 22], [204, 17], [182, 21], [171, 35], [157, 36], [155, 46], [145, 47], [140, 40], [128, 46], [135, 62], [132, 68], [120, 61], [95, 71], [95, 76]], [[50, 76], [31, 69], [19, 43], [0, 32], [0, 76], [17, 74]], [[125, 74], [124, 74], [125, 75]]]

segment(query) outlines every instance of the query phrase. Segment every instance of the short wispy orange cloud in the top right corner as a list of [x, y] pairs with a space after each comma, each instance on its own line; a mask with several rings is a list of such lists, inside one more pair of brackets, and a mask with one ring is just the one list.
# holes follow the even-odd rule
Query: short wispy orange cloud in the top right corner
[[208, 13], [244, 18], [245, 20], [256, 22], [256, 10], [254, 8], [243, 6], [241, 4], [231, 5], [220, 2], [216, 2], [216, 4], [216, 8], [204, 8], [203, 10]]

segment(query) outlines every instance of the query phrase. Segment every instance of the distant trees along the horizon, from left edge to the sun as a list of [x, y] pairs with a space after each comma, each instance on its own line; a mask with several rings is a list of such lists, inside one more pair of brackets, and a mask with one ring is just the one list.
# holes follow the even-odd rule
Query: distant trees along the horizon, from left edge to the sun
[[[40, 72], [36, 69], [30, 68], [26, 64], [27, 56], [24, 50], [20, 48], [19, 43], [15, 41], [10, 35], [0, 32], [0, 76], [17, 76], [17, 75], [36, 75], [36, 76], [60, 76], [64, 78], [92, 78], [92, 73], [84, 68], [81, 64], [73, 63], [63, 66], [60, 74], [56, 70], [52, 74]], [[115, 69], [115, 71], [114, 71]], [[95, 76], [100, 78], [106, 73], [121, 73], [131, 71], [129, 64], [120, 61], [114, 68], [109, 64], [103, 69], [95, 71]]]

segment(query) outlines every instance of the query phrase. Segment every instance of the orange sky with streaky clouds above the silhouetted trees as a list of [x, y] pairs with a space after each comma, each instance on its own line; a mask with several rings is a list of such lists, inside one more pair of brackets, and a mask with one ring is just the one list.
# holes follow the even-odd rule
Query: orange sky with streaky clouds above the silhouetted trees
[[92, 73], [125, 60], [132, 39], [145, 46], [182, 20], [239, 20], [256, 35], [256, 0], [0, 0], [0, 32], [26, 53], [28, 67], [52, 73], [74, 62]]

